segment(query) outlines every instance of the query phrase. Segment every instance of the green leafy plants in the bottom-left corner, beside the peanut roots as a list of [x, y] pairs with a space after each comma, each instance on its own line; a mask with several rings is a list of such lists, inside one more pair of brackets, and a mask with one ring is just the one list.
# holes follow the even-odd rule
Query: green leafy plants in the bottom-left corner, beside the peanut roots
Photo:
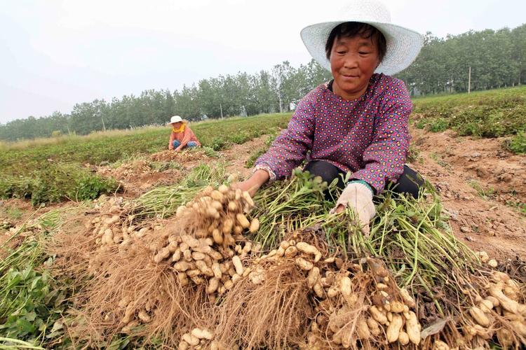
[[[72, 290], [53, 279], [48, 268], [54, 257], [43, 249], [48, 235], [60, 229], [64, 214], [65, 211], [49, 211], [24, 223], [0, 244], [1, 349], [43, 349], [32, 345], [47, 343], [65, 333], [60, 318]], [[20, 244], [10, 244], [10, 240], [17, 239], [22, 239]], [[9, 339], [13, 339], [11, 347], [4, 345], [10, 343]], [[24, 341], [29, 344], [22, 344]]]

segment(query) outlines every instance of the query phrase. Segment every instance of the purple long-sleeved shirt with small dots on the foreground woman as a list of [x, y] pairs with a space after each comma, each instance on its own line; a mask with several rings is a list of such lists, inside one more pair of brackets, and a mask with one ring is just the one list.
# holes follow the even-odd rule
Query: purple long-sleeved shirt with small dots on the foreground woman
[[346, 101], [319, 85], [297, 105], [286, 130], [256, 161], [270, 180], [290, 176], [311, 151], [311, 160], [325, 160], [351, 179], [367, 182], [382, 193], [387, 181], [403, 173], [412, 110], [402, 80], [375, 73], [365, 93]]

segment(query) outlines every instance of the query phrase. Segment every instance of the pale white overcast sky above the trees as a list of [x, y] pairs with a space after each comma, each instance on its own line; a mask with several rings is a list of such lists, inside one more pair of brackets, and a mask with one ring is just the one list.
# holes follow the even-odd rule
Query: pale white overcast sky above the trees
[[[390, 0], [393, 23], [436, 36], [517, 27], [524, 0]], [[309, 62], [306, 25], [343, 0], [0, 0], [0, 123], [76, 103], [180, 89]]]

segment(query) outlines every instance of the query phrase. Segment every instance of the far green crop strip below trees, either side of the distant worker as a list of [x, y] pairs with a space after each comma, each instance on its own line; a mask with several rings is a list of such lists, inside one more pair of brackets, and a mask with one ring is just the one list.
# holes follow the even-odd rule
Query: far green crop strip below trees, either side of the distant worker
[[[247, 118], [229, 118], [190, 125], [203, 146], [220, 151], [231, 144], [244, 142], [269, 134], [287, 126], [290, 113], [262, 115]], [[4, 174], [19, 175], [27, 169], [39, 169], [50, 159], [55, 162], [79, 162], [98, 165], [116, 162], [122, 158], [148, 154], [168, 148], [168, 127], [147, 128], [133, 132], [107, 132], [97, 137], [72, 137], [60, 143], [4, 146], [0, 152], [0, 169]]]

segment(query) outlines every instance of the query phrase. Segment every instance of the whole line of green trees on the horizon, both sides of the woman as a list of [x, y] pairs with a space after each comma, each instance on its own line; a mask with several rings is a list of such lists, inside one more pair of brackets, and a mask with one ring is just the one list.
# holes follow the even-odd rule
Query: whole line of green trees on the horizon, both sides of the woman
[[[515, 29], [468, 31], [437, 38], [427, 33], [413, 64], [398, 73], [412, 94], [465, 92], [520, 85], [526, 79], [526, 25]], [[16, 141], [60, 134], [89, 134], [111, 129], [162, 125], [174, 114], [188, 120], [252, 116], [290, 111], [329, 71], [313, 59], [299, 67], [289, 62], [269, 71], [237, 73], [200, 80], [181, 90], [146, 90], [140, 95], [95, 99], [67, 113], [13, 120], [0, 125], [0, 140]]]

